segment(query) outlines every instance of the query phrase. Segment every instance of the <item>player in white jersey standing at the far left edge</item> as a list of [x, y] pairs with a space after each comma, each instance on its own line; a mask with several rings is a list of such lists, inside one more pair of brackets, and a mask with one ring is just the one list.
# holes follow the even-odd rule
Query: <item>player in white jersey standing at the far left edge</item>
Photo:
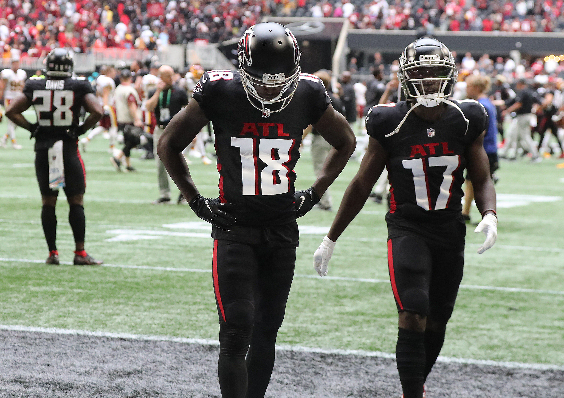
[[[20, 69], [20, 58], [12, 58], [10, 69], [3, 69], [0, 72], [0, 99], [4, 99], [4, 106], [8, 109], [10, 102], [24, 90], [25, 80], [28, 74]], [[16, 142], [16, 125], [8, 118], [6, 123], [6, 134], [0, 138], [0, 145], [6, 147], [8, 138], [12, 141], [12, 148], [21, 149], [21, 145]]]

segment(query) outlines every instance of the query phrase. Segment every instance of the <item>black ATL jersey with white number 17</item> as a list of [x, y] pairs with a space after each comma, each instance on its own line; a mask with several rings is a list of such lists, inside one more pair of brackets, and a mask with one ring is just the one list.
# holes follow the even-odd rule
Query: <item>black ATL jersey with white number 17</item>
[[[441, 223], [460, 218], [465, 151], [486, 129], [487, 114], [478, 101], [455, 103], [469, 120], [468, 131], [459, 110], [446, 105], [436, 122], [427, 122], [412, 112], [398, 133], [385, 137], [405, 117], [408, 102], [376, 105], [369, 111], [368, 135], [388, 153], [389, 226], [396, 224], [406, 229], [404, 221], [408, 221], [408, 229], [435, 239], [445, 231]], [[390, 238], [399, 236], [393, 230], [389, 227]]]

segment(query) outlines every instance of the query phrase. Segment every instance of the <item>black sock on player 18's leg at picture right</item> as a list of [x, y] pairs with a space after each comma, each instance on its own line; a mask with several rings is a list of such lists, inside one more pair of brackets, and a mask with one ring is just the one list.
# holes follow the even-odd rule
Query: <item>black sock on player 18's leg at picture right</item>
[[246, 365], [249, 386], [246, 398], [263, 398], [274, 368], [276, 335], [278, 329], [267, 330], [260, 325], [253, 328], [253, 337]]

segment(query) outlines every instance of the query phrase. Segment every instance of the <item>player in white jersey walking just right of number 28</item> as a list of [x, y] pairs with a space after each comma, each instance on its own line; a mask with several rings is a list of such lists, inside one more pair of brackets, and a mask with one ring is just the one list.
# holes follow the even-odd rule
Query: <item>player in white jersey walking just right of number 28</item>
[[104, 116], [98, 122], [98, 126], [93, 128], [92, 131], [86, 137], [80, 140], [82, 151], [86, 151], [86, 144], [88, 144], [92, 138], [99, 135], [100, 133], [109, 133], [109, 153], [113, 154], [113, 149], [116, 146], [117, 140], [117, 120], [116, 120], [116, 108], [114, 102], [114, 91], [116, 90], [116, 83], [114, 78], [116, 77], [116, 69], [112, 65], [103, 65], [100, 68], [100, 75], [96, 79], [96, 96], [100, 101], [100, 105], [104, 109]]

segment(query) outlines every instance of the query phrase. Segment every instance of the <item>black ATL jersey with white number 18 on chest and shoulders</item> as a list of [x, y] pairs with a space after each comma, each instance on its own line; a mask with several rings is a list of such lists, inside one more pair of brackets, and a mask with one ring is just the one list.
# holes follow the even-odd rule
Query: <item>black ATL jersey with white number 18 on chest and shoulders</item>
[[299, 75], [289, 105], [267, 118], [250, 103], [239, 73], [210, 70], [192, 97], [211, 120], [218, 156], [219, 198], [239, 206], [239, 225], [281, 225], [296, 220], [294, 166], [302, 132], [318, 122], [331, 100], [320, 79]]

